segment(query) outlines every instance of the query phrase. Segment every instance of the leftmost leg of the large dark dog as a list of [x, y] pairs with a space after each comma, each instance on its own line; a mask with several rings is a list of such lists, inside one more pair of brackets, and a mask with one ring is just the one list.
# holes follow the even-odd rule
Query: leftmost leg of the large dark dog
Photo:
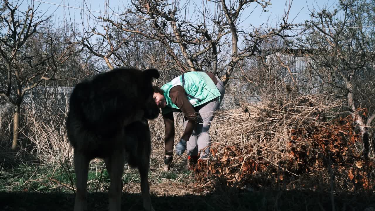
[[74, 211], [86, 210], [87, 174], [90, 160], [83, 154], [74, 152], [74, 169], [77, 176], [77, 192], [75, 195]]

